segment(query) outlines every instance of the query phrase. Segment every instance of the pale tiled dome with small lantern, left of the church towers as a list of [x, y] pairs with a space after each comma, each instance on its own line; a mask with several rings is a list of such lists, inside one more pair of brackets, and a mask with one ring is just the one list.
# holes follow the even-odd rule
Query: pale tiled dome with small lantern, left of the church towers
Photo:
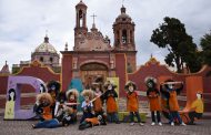
[[41, 43], [34, 52], [50, 52], [50, 53], [57, 53], [57, 50], [53, 48], [52, 44], [49, 43], [49, 38], [44, 38], [44, 42]]

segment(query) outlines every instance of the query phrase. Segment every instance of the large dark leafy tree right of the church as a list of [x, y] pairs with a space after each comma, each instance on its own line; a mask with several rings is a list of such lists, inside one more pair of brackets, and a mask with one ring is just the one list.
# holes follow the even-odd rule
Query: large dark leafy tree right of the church
[[[169, 66], [175, 66], [178, 73], [181, 73], [184, 65], [191, 71], [199, 71], [201, 68], [197, 58], [198, 48], [193, 43], [192, 37], [187, 34], [184, 24], [175, 18], [165, 17], [164, 22], [153, 30], [151, 42], [159, 48], [167, 48], [169, 54], [164, 61]], [[195, 66], [197, 65], [197, 66]]]

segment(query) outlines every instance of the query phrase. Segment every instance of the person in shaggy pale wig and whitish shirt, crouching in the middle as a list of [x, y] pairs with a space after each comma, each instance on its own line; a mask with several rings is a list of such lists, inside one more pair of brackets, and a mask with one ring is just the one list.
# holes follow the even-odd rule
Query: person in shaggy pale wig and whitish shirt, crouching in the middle
[[92, 90], [83, 90], [81, 95], [84, 97], [84, 101], [82, 102], [81, 108], [83, 111], [83, 115], [80, 120], [80, 124], [86, 120], [86, 118], [92, 118], [93, 117], [93, 104], [92, 104], [92, 98], [93, 98], [93, 91]]

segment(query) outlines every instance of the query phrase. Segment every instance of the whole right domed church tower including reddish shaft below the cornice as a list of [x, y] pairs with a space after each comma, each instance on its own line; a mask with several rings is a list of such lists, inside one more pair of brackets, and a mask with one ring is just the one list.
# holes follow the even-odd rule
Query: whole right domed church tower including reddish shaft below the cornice
[[113, 23], [114, 46], [119, 53], [124, 53], [127, 56], [127, 71], [132, 73], [137, 70], [137, 51], [134, 43], [134, 22], [130, 15], [125, 13], [125, 8], [122, 6], [121, 13]]

